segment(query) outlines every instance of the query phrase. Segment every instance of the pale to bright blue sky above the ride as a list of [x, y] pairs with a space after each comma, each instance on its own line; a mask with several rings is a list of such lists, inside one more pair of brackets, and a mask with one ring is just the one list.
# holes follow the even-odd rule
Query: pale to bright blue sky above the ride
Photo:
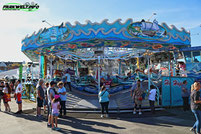
[[[3, 11], [7, 3], [35, 2], [35, 12]], [[21, 52], [21, 41], [26, 35], [51, 25], [75, 21], [86, 23], [109, 19], [132, 18], [133, 21], [152, 19], [191, 32], [191, 45], [201, 46], [201, 0], [0, 0], [0, 61], [30, 61]]]

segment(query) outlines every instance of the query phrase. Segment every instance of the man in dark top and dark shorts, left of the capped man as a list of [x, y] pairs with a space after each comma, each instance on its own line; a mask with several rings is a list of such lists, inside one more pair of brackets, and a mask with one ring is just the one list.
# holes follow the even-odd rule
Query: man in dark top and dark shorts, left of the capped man
[[37, 117], [41, 117], [41, 107], [43, 107], [43, 100], [45, 98], [43, 83], [43, 80], [40, 79], [37, 85]]

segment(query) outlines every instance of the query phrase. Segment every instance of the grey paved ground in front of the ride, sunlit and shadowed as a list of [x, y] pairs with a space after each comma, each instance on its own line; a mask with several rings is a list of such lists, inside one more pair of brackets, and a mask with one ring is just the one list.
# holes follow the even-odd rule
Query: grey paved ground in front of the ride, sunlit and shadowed
[[[14, 100], [10, 105], [16, 112]], [[37, 119], [33, 108], [34, 103], [23, 101], [22, 115], [0, 112], [0, 134], [190, 134], [189, 129], [194, 123], [192, 113], [180, 109], [158, 111], [154, 116], [149, 112], [144, 112], [142, 116], [111, 114], [109, 119], [101, 119], [97, 113], [68, 113], [65, 118], [59, 119], [61, 131], [57, 132], [46, 127], [46, 119]]]

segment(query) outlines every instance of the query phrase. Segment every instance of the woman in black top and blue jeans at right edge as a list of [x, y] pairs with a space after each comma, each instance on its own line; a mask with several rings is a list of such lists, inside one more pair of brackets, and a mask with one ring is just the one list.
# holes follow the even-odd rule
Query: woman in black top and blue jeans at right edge
[[197, 134], [200, 134], [200, 124], [201, 124], [201, 100], [200, 98], [200, 83], [195, 82], [194, 90], [191, 92], [191, 110], [195, 115], [196, 122], [193, 127], [190, 129], [191, 131], [196, 131]]

